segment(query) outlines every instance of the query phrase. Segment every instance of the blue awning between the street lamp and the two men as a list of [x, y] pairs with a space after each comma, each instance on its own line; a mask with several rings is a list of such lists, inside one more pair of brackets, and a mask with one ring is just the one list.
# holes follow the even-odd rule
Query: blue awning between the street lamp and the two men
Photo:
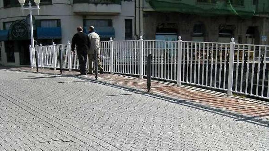
[[61, 39], [62, 38], [61, 27], [38, 27], [37, 38], [38, 39]]

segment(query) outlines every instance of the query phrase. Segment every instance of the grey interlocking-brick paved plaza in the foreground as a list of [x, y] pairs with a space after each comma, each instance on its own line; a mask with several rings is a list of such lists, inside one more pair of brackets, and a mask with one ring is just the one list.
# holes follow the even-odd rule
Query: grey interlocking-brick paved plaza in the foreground
[[0, 70], [0, 151], [267, 151], [269, 127], [66, 74]]

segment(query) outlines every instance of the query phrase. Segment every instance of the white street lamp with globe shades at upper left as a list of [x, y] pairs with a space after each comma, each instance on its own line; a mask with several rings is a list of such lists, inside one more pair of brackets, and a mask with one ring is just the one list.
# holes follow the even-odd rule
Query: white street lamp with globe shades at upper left
[[32, 3], [31, 3], [31, 0], [29, 0], [29, 7], [26, 7], [24, 8], [24, 3], [25, 3], [25, 0], [19, 0], [19, 3], [21, 5], [21, 10], [22, 10], [22, 13], [24, 13], [24, 9], [27, 9], [30, 11], [30, 26], [31, 26], [31, 45], [32, 47], [34, 47], [34, 30], [33, 30], [33, 18], [32, 18], [32, 10], [33, 9], [37, 9], [38, 11], [38, 15], [39, 15], [39, 3], [40, 3], [40, 0], [34, 0], [35, 1], [35, 4], [36, 4], [36, 7], [32, 7]]

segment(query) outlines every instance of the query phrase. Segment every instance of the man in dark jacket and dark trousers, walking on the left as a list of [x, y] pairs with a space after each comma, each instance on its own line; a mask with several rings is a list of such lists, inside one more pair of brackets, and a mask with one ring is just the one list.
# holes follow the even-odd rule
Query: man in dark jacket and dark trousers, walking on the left
[[77, 27], [78, 33], [72, 38], [71, 50], [75, 52], [75, 45], [79, 59], [79, 75], [86, 75], [87, 51], [89, 49], [90, 41], [87, 34], [83, 33], [82, 27]]

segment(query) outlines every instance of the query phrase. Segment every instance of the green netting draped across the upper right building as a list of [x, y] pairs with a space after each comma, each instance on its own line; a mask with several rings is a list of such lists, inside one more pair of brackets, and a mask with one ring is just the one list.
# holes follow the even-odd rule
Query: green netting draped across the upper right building
[[[198, 1], [198, 2], [197, 2]], [[236, 15], [250, 17], [269, 14], [268, 0], [149, 0], [155, 11], [180, 12], [204, 16]]]

